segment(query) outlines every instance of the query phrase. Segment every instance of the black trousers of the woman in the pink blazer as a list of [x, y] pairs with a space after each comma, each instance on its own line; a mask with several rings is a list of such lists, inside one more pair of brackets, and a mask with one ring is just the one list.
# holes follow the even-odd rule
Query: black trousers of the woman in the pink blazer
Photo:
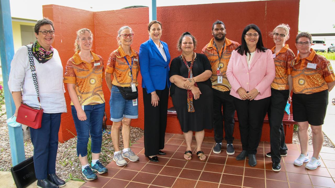
[[233, 101], [239, 118], [242, 149], [256, 155], [270, 97], [252, 101], [234, 97]]

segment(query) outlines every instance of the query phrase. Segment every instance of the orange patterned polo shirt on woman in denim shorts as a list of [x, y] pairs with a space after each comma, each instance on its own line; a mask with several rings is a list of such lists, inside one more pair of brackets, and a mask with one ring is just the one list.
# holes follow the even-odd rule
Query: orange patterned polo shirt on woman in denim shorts
[[112, 84], [115, 86], [121, 87], [130, 87], [131, 84], [131, 73], [127, 61], [124, 57], [127, 58], [129, 65], [131, 66], [131, 59], [133, 58], [133, 83], [138, 86], [137, 76], [139, 71], [139, 60], [138, 52], [134, 51], [132, 48], [131, 55], [127, 55], [121, 45], [119, 48], [109, 55], [108, 63], [106, 66], [106, 72], [113, 74]]

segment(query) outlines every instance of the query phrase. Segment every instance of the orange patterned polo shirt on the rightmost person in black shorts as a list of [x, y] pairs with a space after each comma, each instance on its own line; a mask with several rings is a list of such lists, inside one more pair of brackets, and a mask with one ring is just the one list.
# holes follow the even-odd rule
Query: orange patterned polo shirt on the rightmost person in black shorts
[[[316, 64], [316, 69], [308, 68], [308, 63]], [[300, 54], [291, 61], [293, 92], [312, 94], [328, 89], [327, 83], [335, 81], [334, 70], [330, 62], [311, 49], [307, 58], [300, 59]]]

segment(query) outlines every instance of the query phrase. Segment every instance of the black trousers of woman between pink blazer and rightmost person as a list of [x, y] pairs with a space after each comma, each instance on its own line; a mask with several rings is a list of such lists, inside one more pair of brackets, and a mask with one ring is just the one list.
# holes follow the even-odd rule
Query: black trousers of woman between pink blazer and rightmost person
[[288, 95], [288, 89], [276, 90], [271, 88], [268, 117], [270, 123], [271, 160], [276, 163], [280, 163], [280, 152], [287, 150], [282, 120]]

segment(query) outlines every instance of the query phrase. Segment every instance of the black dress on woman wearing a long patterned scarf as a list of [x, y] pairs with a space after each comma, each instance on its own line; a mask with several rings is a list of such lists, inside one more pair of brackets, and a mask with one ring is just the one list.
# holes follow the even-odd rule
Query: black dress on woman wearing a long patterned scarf
[[[187, 62], [191, 65], [191, 62]], [[211, 65], [207, 57], [203, 54], [197, 54], [194, 60], [192, 73], [193, 77], [202, 74], [205, 70], [212, 71]], [[179, 75], [188, 78], [188, 69], [179, 56], [172, 60], [170, 66], [170, 77]], [[198, 88], [201, 92], [199, 99], [193, 98], [193, 106], [195, 112], [188, 112], [187, 104], [187, 90], [177, 87], [175, 84], [171, 85], [170, 95], [172, 97], [173, 105], [177, 111], [180, 126], [183, 132], [202, 131], [203, 129], [212, 129], [213, 121], [213, 91], [212, 83], [208, 79], [204, 82], [197, 82]]]

